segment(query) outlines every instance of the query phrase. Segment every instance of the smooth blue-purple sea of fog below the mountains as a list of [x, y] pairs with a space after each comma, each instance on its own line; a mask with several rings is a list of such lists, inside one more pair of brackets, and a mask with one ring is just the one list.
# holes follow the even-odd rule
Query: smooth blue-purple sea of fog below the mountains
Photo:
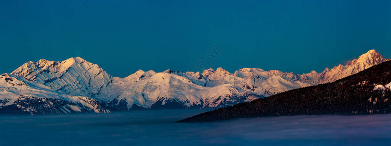
[[0, 116], [0, 146], [391, 144], [391, 114], [285, 116], [174, 123], [206, 110]]

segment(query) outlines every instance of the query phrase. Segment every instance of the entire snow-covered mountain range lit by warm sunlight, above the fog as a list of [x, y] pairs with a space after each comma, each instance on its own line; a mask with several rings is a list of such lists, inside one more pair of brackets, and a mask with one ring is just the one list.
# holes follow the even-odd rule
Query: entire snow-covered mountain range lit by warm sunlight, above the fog
[[0, 76], [0, 113], [111, 112], [219, 108], [296, 88], [332, 82], [387, 61], [374, 50], [331, 70], [305, 74], [243, 68], [203, 73], [137, 71], [113, 77], [80, 57], [26, 62]]

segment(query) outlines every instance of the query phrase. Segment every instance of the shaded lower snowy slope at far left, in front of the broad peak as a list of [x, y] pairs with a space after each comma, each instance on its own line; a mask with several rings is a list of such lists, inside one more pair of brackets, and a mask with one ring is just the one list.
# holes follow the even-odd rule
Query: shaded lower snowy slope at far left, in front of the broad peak
[[105, 104], [82, 96], [70, 96], [16, 75], [0, 75], [0, 113], [68, 114], [110, 112]]

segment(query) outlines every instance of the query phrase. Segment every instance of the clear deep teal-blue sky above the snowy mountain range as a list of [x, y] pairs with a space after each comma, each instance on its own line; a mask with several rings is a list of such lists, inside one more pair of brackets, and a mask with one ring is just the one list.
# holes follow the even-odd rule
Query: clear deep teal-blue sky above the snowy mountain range
[[0, 73], [80, 56], [114, 76], [214, 68], [322, 71], [376, 49], [391, 58], [391, 0], [3, 0]]

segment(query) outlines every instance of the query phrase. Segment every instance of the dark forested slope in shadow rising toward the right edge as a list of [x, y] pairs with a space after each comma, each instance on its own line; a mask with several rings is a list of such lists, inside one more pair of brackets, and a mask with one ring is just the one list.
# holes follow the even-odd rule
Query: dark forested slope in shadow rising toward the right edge
[[391, 112], [391, 61], [337, 80], [220, 108], [178, 122], [260, 116], [373, 114]]

